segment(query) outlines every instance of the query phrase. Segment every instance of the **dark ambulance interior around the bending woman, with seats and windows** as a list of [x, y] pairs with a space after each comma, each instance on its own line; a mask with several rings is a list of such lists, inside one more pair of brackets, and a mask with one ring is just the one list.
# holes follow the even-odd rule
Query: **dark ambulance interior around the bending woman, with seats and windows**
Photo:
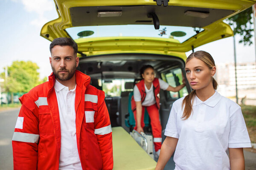
[[[80, 58], [78, 69], [91, 77], [91, 85], [105, 91], [105, 102], [112, 127], [122, 126], [128, 132], [133, 130], [135, 121], [131, 111], [131, 96], [135, 83], [141, 80], [140, 68], [143, 65], [152, 65], [155, 69], [155, 77], [163, 79], [169, 85], [175, 87], [182, 84], [184, 61], [179, 57], [156, 54], [111, 54]], [[159, 112], [163, 132], [172, 103], [186, 96], [190, 91], [188, 84], [179, 92], [160, 90]], [[148, 116], [145, 116], [144, 122], [145, 131], [150, 133]]]

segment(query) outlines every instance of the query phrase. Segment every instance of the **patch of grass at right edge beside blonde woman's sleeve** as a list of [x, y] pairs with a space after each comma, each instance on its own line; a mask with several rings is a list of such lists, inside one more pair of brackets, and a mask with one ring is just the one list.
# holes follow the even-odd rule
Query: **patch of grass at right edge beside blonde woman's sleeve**
[[241, 105], [245, 124], [252, 143], [256, 143], [256, 106]]

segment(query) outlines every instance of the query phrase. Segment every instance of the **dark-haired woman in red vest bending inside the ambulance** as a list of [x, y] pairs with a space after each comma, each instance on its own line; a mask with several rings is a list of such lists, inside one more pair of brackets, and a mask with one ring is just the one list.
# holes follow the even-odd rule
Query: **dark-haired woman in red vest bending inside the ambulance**
[[143, 79], [134, 86], [134, 96], [132, 96], [131, 100], [131, 107], [136, 122], [134, 129], [139, 133], [143, 132], [143, 127], [145, 126], [144, 111], [146, 108], [154, 137], [155, 156], [158, 157], [162, 143], [162, 127], [158, 111], [160, 108], [160, 88], [166, 91], [177, 92], [185, 86], [185, 80], [183, 78], [182, 85], [172, 87], [162, 79], [155, 78], [154, 68], [151, 65], [143, 65], [140, 69], [140, 75]]

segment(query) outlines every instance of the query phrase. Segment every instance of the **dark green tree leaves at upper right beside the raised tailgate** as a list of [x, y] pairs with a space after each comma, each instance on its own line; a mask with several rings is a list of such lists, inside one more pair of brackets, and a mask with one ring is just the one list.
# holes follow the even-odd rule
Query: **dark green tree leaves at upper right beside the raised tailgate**
[[252, 16], [253, 10], [250, 7], [227, 19], [228, 24], [233, 27], [234, 35], [239, 34], [242, 37], [239, 43], [244, 43], [244, 45], [253, 43], [251, 40], [253, 37]]

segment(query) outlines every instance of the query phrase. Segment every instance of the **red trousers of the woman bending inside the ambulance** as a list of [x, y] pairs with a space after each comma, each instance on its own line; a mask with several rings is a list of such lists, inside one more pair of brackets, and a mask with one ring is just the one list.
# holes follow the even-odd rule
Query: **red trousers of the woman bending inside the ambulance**
[[[157, 109], [157, 105], [151, 105], [151, 106], [142, 106], [142, 114], [141, 114], [141, 127], [143, 128], [145, 126], [144, 124], [144, 112], [145, 108], [148, 111], [148, 116], [150, 118], [150, 124], [152, 127], [152, 133], [154, 137], [154, 147], [155, 151], [159, 150], [161, 148], [162, 143], [162, 126], [160, 124], [159, 119], [159, 111]], [[137, 130], [137, 120], [136, 120], [136, 110], [134, 111], [134, 119], [135, 119], [135, 127], [134, 129]]]

